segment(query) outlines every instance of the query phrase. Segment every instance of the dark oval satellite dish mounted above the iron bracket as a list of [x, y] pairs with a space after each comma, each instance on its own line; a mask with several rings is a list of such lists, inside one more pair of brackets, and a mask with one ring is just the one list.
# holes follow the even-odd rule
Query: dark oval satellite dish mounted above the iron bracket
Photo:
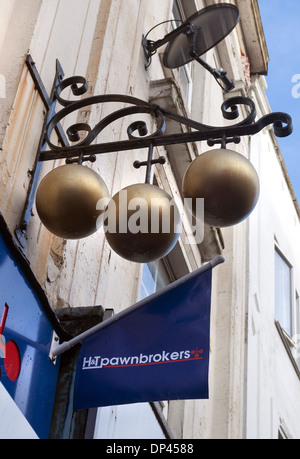
[[208, 6], [193, 14], [184, 23], [187, 31], [169, 41], [164, 66], [178, 68], [202, 56], [220, 43], [236, 27], [239, 19], [237, 7], [228, 3]]

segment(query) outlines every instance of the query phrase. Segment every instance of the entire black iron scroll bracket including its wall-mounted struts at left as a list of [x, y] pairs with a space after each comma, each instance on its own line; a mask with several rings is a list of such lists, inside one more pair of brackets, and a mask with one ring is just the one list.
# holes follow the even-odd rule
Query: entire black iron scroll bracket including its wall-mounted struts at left
[[[154, 147], [200, 141], [207, 141], [209, 146], [220, 143], [222, 147], [226, 147], [227, 143], [239, 143], [242, 136], [257, 134], [268, 125], [273, 125], [277, 137], [287, 137], [293, 131], [292, 119], [286, 113], [277, 112], [267, 114], [260, 120], [255, 121], [257, 116], [256, 107], [254, 102], [247, 97], [232, 97], [222, 104], [221, 110], [226, 120], [236, 120], [239, 117], [239, 106], [246, 107], [249, 112], [243, 121], [227, 127], [208, 126], [177, 113], [170, 112], [157, 104], [127, 95], [96, 95], [80, 98], [77, 101], [66, 100], [62, 97], [63, 91], [70, 89], [73, 96], [81, 97], [88, 91], [88, 85], [86, 79], [82, 76], [64, 79], [64, 73], [59, 61], [56, 63], [56, 75], [52, 92], [48, 96], [30, 55], [26, 59], [26, 65], [34, 79], [36, 90], [44, 101], [47, 116], [31, 173], [31, 182], [23, 215], [19, 226], [16, 228], [16, 236], [23, 247], [26, 245], [26, 233], [44, 161], [66, 159], [67, 163], [82, 164], [84, 161], [94, 162], [98, 154], [146, 148], [148, 149], [147, 161], [136, 161], [134, 167], [147, 166], [146, 183], [149, 183], [152, 165], [155, 163], [163, 164], [165, 162], [162, 156], [158, 159], [153, 159]], [[84, 107], [112, 102], [121, 104], [123, 107], [124, 105], [128, 106], [112, 112], [94, 127], [91, 127], [88, 123], [76, 123], [72, 124], [65, 132], [62, 129], [61, 122], [68, 115], [78, 112]], [[55, 107], [57, 103], [63, 108], [56, 113]], [[108, 143], [99, 141], [101, 133], [109, 125], [122, 118], [139, 114], [150, 115], [151, 119], [155, 120], [155, 132], [149, 134], [145, 121], [135, 121], [128, 126], [128, 138], [126, 140]], [[167, 120], [173, 120], [184, 125], [186, 132], [166, 135]], [[53, 131], [56, 131], [60, 145], [52, 143], [51, 137]], [[74, 142], [76, 143], [71, 145]]]

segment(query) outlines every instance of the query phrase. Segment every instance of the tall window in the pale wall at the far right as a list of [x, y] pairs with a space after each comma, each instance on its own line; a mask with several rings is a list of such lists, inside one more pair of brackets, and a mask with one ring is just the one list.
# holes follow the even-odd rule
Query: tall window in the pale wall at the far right
[[292, 276], [291, 266], [275, 249], [275, 319], [292, 336]]

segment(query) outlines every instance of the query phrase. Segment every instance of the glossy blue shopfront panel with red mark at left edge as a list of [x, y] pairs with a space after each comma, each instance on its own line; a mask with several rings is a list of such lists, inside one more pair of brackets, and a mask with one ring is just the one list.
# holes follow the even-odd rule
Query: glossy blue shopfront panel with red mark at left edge
[[49, 437], [58, 379], [53, 331], [64, 335], [0, 215], [0, 385], [39, 438]]

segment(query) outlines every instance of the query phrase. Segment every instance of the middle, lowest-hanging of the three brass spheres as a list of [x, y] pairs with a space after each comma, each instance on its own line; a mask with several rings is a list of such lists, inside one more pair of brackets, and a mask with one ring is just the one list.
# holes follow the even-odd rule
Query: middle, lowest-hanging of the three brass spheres
[[181, 231], [172, 197], [155, 185], [135, 184], [115, 194], [104, 218], [106, 239], [122, 258], [149, 263], [167, 255]]

